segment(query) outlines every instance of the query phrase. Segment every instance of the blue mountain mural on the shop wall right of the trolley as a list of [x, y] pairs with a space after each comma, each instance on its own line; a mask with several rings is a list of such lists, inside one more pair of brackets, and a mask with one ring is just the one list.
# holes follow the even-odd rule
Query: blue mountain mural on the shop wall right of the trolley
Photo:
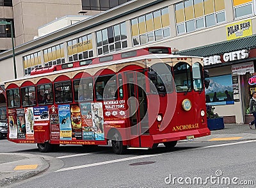
[[234, 104], [232, 75], [209, 77], [209, 88], [205, 88], [205, 100], [209, 105]]

